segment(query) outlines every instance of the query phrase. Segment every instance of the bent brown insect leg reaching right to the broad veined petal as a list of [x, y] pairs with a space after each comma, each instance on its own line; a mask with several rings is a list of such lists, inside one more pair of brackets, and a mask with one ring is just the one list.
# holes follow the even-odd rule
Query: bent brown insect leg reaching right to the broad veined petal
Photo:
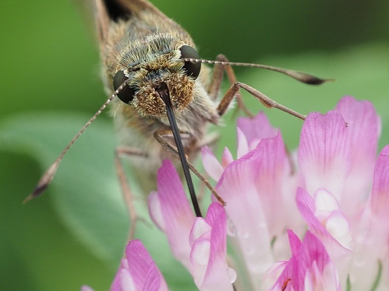
[[306, 115], [303, 115], [301, 113], [298, 113], [294, 110], [291, 110], [282, 104], [277, 103], [276, 101], [270, 99], [265, 94], [259, 92], [258, 90], [254, 89], [253, 87], [250, 87], [244, 83], [241, 82], [235, 82], [231, 85], [230, 89], [226, 92], [224, 97], [221, 99], [219, 106], [217, 107], [217, 112], [219, 115], [223, 115], [228, 106], [231, 103], [232, 98], [235, 96], [236, 92], [239, 91], [239, 89], [245, 89], [248, 93], [250, 93], [252, 96], [257, 98], [262, 104], [264, 104], [267, 108], [278, 108], [282, 110], [283, 112], [289, 113], [291, 115], [294, 115], [302, 120], [305, 120]]

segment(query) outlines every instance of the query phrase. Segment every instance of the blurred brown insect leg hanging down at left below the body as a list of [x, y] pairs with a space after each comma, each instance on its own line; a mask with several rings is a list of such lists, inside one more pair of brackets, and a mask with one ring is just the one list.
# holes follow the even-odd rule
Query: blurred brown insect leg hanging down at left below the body
[[134, 195], [131, 192], [131, 189], [128, 185], [127, 179], [125, 178], [124, 168], [121, 161], [121, 157], [123, 156], [141, 156], [146, 157], [146, 155], [138, 148], [135, 147], [117, 147], [115, 149], [115, 164], [116, 164], [116, 172], [118, 174], [119, 182], [122, 187], [122, 193], [124, 196], [124, 201], [127, 206], [128, 214], [130, 216], [130, 233], [129, 239], [134, 239], [135, 229], [137, 221], [140, 220], [138, 213], [135, 209], [134, 205]]

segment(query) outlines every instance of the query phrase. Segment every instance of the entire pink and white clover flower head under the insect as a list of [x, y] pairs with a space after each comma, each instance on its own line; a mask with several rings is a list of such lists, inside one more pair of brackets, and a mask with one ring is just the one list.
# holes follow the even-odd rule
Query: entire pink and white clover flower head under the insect
[[[380, 130], [370, 102], [343, 97], [336, 110], [307, 116], [297, 152], [288, 153], [263, 113], [239, 118], [236, 160], [227, 148], [221, 162], [202, 149], [225, 208], [212, 202], [195, 217], [164, 161], [150, 215], [201, 291], [387, 290], [389, 146], [377, 160]], [[130, 251], [135, 242], [139, 251]], [[167, 290], [135, 242], [112, 290]]]

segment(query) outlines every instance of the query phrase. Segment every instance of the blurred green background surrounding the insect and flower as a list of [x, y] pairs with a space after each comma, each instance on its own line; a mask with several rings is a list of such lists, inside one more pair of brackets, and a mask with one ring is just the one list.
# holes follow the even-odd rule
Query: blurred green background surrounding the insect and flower
[[[236, 68], [238, 80], [301, 113], [334, 108], [343, 95], [371, 100], [389, 143], [387, 1], [164, 1], [153, 3], [190, 32], [202, 58], [257, 62], [335, 82], [308, 86]], [[102, 114], [62, 162], [41, 197], [22, 204], [45, 168], [105, 101], [90, 12], [70, 0], [0, 4], [0, 286], [2, 290], [107, 290], [126, 241], [127, 217], [114, 175], [114, 132]], [[244, 95], [253, 112], [263, 106]], [[301, 121], [265, 110], [288, 148]], [[231, 114], [217, 129], [235, 148]], [[136, 190], [136, 189], [135, 189]], [[148, 226], [147, 226], [148, 227]], [[147, 228], [141, 226], [140, 228]], [[172, 290], [192, 290], [158, 230], [139, 236]], [[166, 252], [165, 252], [166, 253]], [[173, 268], [174, 272], [169, 273]], [[174, 274], [173, 274], [174, 273]], [[180, 287], [178, 287], [180, 286]]]

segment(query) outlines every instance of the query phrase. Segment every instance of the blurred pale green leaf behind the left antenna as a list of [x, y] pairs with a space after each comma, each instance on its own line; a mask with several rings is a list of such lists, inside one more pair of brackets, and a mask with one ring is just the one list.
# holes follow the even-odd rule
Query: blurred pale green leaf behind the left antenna
[[[77, 113], [13, 116], [0, 127], [0, 149], [30, 154], [46, 168], [86, 120], [86, 115]], [[114, 174], [114, 140], [109, 123], [95, 121], [65, 156], [47, 193], [43, 194], [53, 197], [55, 208], [75, 237], [113, 267], [123, 257], [129, 229]], [[136, 186], [132, 182], [131, 186]], [[139, 196], [139, 191], [135, 193]], [[152, 226], [144, 199], [137, 200], [139, 215], [145, 223], [138, 223], [136, 237], [154, 255], [169, 286], [193, 290], [189, 274], [170, 255], [166, 238]], [[39, 203], [39, 198], [28, 202], [31, 203]], [[178, 271], [170, 272], [172, 268]]]

